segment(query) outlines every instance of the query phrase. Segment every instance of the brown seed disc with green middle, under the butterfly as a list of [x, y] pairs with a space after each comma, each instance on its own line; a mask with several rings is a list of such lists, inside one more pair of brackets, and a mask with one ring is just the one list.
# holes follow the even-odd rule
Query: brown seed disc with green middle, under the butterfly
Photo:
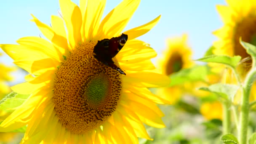
[[120, 99], [120, 73], [94, 58], [95, 45], [78, 45], [56, 73], [54, 109], [62, 125], [75, 134], [99, 128], [115, 112]]

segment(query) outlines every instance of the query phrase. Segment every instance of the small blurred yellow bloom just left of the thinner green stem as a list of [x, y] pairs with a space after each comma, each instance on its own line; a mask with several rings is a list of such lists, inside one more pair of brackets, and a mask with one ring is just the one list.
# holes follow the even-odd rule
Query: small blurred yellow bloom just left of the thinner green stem
[[200, 107], [200, 112], [207, 120], [222, 120], [222, 104], [219, 101], [204, 102]]

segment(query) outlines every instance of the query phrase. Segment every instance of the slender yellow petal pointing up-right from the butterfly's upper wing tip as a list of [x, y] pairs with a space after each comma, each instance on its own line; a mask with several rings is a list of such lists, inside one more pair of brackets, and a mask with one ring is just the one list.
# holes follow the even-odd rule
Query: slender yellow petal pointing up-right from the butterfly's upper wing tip
[[150, 29], [152, 29], [153, 27], [155, 27], [155, 25], [157, 24], [157, 22], [160, 20], [161, 16], [158, 16], [157, 18], [155, 18], [154, 20], [148, 22], [147, 24], [144, 24], [142, 26], [139, 27], [135, 27], [133, 29], [130, 29], [128, 31], [123, 32], [124, 34], [128, 35], [128, 40], [132, 40], [136, 37], [139, 37], [141, 35], [144, 35], [145, 33], [147, 33]]

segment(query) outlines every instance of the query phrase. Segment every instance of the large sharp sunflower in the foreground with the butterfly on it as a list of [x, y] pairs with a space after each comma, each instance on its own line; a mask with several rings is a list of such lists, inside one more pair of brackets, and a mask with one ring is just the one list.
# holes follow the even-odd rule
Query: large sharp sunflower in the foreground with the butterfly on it
[[[51, 16], [51, 26], [32, 16], [48, 40], [23, 37], [18, 45], [0, 45], [29, 72], [27, 82], [13, 86], [13, 91], [31, 94], [0, 131], [27, 125], [21, 143], [131, 144], [138, 143], [138, 137], [150, 139], [143, 123], [165, 127], [156, 104], [170, 101], [147, 88], [167, 85], [169, 79], [157, 73], [150, 60], [156, 52], [135, 38], [154, 27], [160, 16], [123, 32], [127, 41], [115, 41], [139, 0], [123, 0], [102, 21], [105, 0], [80, 0], [80, 6], [70, 0], [59, 3], [61, 16]], [[115, 47], [104, 49], [113, 43]], [[99, 55], [93, 52], [97, 44], [104, 50]], [[119, 46], [123, 48], [118, 53]], [[114, 52], [118, 54], [108, 59]]]

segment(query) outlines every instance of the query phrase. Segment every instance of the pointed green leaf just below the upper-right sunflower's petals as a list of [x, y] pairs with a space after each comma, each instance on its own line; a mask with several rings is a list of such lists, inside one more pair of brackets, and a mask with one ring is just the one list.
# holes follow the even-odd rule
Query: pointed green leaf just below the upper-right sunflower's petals
[[241, 60], [241, 56], [219, 56], [219, 55], [211, 55], [205, 56], [201, 59], [197, 59], [196, 61], [203, 61], [203, 62], [213, 62], [219, 64], [225, 64], [229, 67], [236, 68]]

